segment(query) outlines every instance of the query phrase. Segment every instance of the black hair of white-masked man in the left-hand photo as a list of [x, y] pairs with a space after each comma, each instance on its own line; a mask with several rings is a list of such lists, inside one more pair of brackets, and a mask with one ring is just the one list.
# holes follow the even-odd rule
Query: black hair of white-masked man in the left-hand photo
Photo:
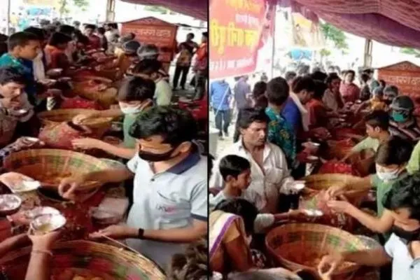
[[119, 102], [145, 101], [153, 99], [156, 84], [153, 80], [141, 77], [128, 77], [123, 80], [118, 89]]

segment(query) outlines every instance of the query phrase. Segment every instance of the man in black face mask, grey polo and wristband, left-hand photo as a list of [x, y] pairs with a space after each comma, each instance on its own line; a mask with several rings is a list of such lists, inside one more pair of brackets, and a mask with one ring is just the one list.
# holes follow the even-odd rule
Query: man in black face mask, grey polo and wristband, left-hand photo
[[64, 179], [60, 195], [74, 197], [86, 181], [122, 182], [134, 178], [134, 204], [127, 225], [112, 225], [91, 235], [127, 239], [137, 251], [166, 267], [172, 255], [207, 235], [207, 158], [193, 139], [193, 116], [170, 107], [152, 107], [141, 113], [130, 134], [138, 153], [127, 169], [94, 172]]

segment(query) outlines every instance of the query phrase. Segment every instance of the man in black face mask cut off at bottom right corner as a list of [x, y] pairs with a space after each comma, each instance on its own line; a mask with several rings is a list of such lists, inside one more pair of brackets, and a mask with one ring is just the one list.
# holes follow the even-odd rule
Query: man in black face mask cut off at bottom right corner
[[420, 174], [395, 183], [383, 200], [393, 213], [393, 234], [384, 248], [325, 256], [318, 270], [332, 274], [344, 261], [381, 267], [392, 262], [392, 280], [420, 279]]

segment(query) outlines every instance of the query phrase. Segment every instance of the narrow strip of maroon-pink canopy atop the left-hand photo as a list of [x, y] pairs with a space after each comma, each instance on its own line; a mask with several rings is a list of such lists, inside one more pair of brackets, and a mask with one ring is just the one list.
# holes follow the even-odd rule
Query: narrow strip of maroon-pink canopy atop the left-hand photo
[[123, 0], [139, 5], [163, 6], [176, 13], [190, 15], [193, 18], [207, 21], [209, 3], [202, 0]]

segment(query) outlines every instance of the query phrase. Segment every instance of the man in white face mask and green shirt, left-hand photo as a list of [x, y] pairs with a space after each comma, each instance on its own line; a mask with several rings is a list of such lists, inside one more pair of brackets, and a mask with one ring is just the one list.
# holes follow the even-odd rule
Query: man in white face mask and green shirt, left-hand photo
[[98, 139], [84, 138], [73, 141], [75, 148], [89, 150], [99, 148], [106, 153], [116, 155], [120, 158], [131, 159], [135, 154], [136, 141], [129, 134], [130, 127], [137, 116], [148, 107], [153, 105], [152, 99], [155, 93], [155, 83], [140, 77], [130, 77], [123, 80], [118, 91], [120, 109], [109, 109], [96, 111], [90, 115], [80, 115], [73, 119], [73, 123], [83, 123], [89, 118], [119, 117], [124, 115], [124, 142], [123, 146], [114, 146]]

